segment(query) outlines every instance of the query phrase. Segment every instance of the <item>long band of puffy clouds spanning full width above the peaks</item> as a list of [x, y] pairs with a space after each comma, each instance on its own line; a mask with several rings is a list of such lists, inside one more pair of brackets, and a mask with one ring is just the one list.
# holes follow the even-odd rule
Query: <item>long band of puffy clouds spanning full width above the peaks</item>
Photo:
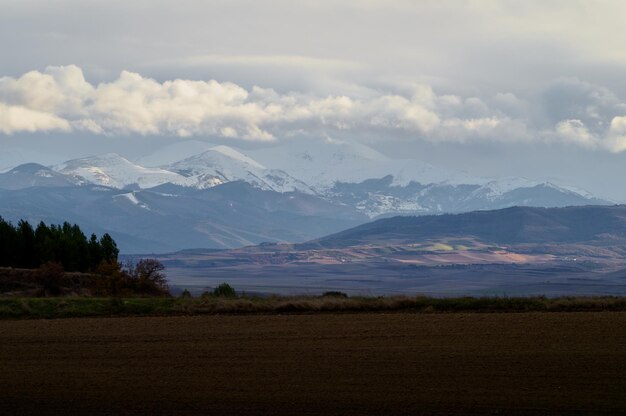
[[[577, 79], [551, 84], [540, 105], [510, 92], [491, 97], [402, 92], [280, 93], [232, 82], [157, 81], [122, 71], [91, 84], [75, 65], [0, 78], [0, 132], [104, 136], [209, 136], [273, 141], [298, 135], [470, 143], [556, 141], [626, 150], [626, 106], [608, 89]], [[535, 108], [543, 106], [539, 115]]]

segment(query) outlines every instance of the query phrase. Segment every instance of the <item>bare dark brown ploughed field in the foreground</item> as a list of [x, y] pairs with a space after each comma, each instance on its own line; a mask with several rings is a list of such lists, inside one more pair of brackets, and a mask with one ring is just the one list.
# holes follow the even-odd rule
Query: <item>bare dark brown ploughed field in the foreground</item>
[[626, 414], [626, 313], [0, 321], [0, 414]]

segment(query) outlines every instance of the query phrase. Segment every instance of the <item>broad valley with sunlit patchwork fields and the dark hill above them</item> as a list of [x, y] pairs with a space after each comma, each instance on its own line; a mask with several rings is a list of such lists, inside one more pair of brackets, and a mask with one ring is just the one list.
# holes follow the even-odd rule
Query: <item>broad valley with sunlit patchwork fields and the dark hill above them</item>
[[395, 217], [302, 244], [158, 258], [173, 285], [430, 296], [626, 294], [626, 207]]

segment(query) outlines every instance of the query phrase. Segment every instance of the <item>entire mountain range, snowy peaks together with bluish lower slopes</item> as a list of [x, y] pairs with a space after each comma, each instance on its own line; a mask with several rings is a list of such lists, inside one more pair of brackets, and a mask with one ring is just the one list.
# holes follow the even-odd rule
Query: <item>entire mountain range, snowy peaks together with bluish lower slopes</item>
[[126, 253], [301, 242], [398, 214], [609, 203], [568, 186], [478, 178], [333, 140], [246, 151], [184, 141], [133, 160], [109, 153], [34, 162], [0, 173], [0, 215], [107, 230]]

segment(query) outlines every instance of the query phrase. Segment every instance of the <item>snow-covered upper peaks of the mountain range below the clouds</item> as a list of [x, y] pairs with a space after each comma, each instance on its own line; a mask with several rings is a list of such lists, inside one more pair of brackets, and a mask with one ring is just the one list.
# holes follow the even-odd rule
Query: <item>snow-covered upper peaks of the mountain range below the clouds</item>
[[[149, 189], [171, 183], [209, 189], [243, 181], [266, 191], [318, 195], [352, 206], [370, 218], [606, 202], [571, 187], [516, 177], [473, 177], [418, 160], [391, 159], [363, 144], [330, 139], [291, 141], [247, 151], [188, 141], [157, 149], [138, 160], [150, 166], [109, 153], [70, 160], [46, 172], [43, 167], [37, 168], [39, 173], [32, 166], [22, 167], [30, 176], [13, 172], [14, 176], [3, 177], [4, 187], [92, 184]], [[54, 180], [42, 176], [54, 176]]]

